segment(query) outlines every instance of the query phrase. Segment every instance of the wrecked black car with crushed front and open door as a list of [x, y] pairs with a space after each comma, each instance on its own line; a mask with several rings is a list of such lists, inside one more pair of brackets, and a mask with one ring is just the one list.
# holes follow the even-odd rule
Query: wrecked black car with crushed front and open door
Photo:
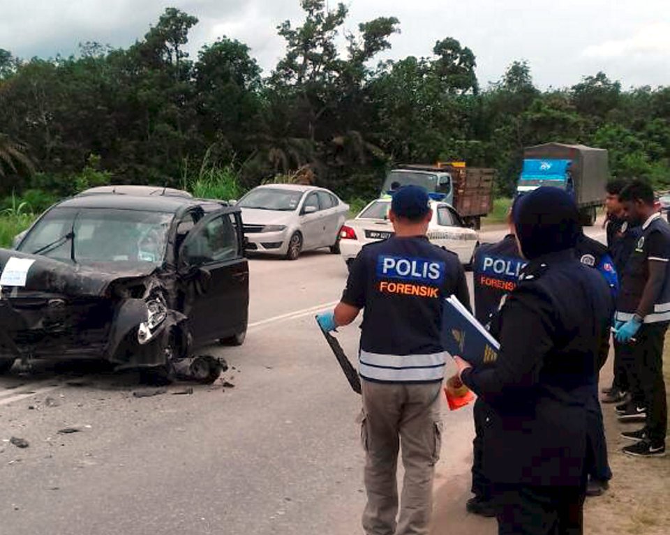
[[20, 359], [105, 359], [211, 382], [194, 356], [244, 342], [248, 263], [238, 208], [140, 190], [78, 195], [0, 249], [0, 372]]

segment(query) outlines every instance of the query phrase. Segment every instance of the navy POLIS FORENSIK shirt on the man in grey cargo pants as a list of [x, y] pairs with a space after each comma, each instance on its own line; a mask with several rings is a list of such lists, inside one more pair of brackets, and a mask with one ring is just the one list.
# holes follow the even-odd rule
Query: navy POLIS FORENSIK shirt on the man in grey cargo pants
[[470, 308], [459, 258], [425, 236], [393, 236], [362, 248], [342, 301], [363, 308], [360, 368], [378, 382], [437, 382], [444, 372], [442, 302]]

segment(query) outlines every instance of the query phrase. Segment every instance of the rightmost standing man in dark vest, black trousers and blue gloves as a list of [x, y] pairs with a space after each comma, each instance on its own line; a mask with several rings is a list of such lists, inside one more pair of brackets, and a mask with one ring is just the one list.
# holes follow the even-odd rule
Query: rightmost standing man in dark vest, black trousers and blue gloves
[[631, 410], [646, 413], [645, 426], [621, 435], [634, 444], [628, 455], [665, 455], [667, 400], [663, 379], [663, 344], [670, 322], [670, 226], [654, 206], [648, 183], [632, 181], [621, 193], [630, 225], [642, 234], [623, 269], [616, 306], [617, 342], [630, 345], [633, 355], [629, 378], [634, 399]]

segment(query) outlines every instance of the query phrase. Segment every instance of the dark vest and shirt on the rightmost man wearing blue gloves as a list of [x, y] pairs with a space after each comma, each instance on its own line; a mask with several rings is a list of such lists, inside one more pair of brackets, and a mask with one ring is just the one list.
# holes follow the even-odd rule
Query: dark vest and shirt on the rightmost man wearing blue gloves
[[654, 309], [644, 318], [645, 323], [670, 321], [670, 225], [660, 213], [651, 216], [641, 228], [635, 248], [632, 250], [621, 276], [621, 289], [616, 303], [616, 319], [631, 319], [642, 299], [649, 278], [650, 260], [665, 262], [666, 275], [660, 296]]

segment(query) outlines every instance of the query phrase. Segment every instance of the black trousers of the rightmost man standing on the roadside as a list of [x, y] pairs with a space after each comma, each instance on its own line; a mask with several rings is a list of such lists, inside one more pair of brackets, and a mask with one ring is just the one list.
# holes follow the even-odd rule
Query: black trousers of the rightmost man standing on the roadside
[[639, 392], [639, 405], [646, 407], [646, 430], [653, 444], [664, 442], [668, 426], [668, 406], [663, 379], [663, 342], [667, 323], [643, 324], [629, 344], [634, 362], [630, 379]]

